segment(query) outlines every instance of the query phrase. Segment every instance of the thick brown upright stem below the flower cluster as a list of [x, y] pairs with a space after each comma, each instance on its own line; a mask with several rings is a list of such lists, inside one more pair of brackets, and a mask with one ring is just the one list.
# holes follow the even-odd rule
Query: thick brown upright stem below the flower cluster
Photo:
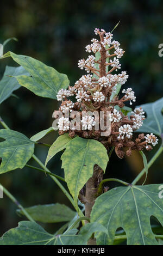
[[[99, 166], [93, 169], [92, 177], [86, 182], [85, 188], [85, 217], [90, 218], [92, 207], [97, 198], [98, 185], [103, 179], [103, 170]], [[92, 237], [87, 245], [96, 245], [96, 240]]]

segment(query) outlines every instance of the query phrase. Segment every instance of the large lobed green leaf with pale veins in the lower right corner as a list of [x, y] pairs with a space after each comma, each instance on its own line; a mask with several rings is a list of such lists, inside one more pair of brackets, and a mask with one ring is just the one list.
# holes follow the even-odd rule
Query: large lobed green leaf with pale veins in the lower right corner
[[117, 228], [123, 228], [128, 245], [157, 245], [150, 217], [163, 225], [163, 200], [159, 198], [160, 185], [116, 187], [96, 199], [91, 222], [108, 229], [109, 236], [98, 233], [99, 245], [111, 245]]

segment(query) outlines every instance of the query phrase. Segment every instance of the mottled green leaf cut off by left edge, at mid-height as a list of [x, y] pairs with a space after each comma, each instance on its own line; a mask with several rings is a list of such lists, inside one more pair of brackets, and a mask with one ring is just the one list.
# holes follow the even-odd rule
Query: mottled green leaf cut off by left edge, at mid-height
[[34, 153], [34, 143], [25, 135], [13, 130], [0, 130], [0, 174], [16, 168], [23, 168]]

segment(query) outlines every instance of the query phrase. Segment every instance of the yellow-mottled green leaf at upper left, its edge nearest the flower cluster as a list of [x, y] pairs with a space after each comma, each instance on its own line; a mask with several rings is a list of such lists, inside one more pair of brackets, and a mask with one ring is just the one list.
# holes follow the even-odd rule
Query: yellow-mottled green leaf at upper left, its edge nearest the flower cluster
[[8, 52], [2, 58], [12, 57], [18, 64], [26, 69], [28, 76], [14, 76], [21, 86], [26, 87], [34, 94], [50, 99], [57, 99], [57, 93], [61, 88], [67, 88], [69, 80], [65, 74], [60, 74], [51, 66], [47, 66], [29, 56], [17, 55], [13, 52]]

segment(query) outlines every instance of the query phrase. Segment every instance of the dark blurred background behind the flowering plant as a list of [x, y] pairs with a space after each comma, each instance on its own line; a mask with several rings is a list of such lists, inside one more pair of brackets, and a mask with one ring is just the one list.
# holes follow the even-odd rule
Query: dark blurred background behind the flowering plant
[[[125, 88], [132, 87], [137, 98], [133, 107], [162, 96], [163, 57], [158, 56], [158, 45], [163, 43], [161, 0], [6, 0], [1, 1], [0, 13], [0, 42], [13, 36], [18, 39], [18, 42], [10, 41], [5, 52], [11, 50], [39, 59], [67, 74], [71, 85], [84, 74], [77, 63], [78, 59], [87, 56], [84, 49], [95, 37], [94, 28], [109, 32], [120, 20], [114, 40], [120, 41], [126, 51], [121, 64], [122, 70], [129, 74]], [[5, 65], [16, 66], [9, 58], [1, 60], [1, 77]], [[18, 99], [10, 97], [0, 106], [0, 114], [12, 130], [30, 138], [52, 125], [57, 101], [38, 97], [25, 88], [17, 90], [16, 95]], [[42, 142], [52, 144], [57, 136], [57, 132], [52, 132]], [[148, 160], [155, 150], [146, 154]], [[42, 162], [45, 162], [47, 151], [48, 148], [36, 145], [35, 154]], [[60, 156], [57, 154], [48, 167], [56, 174], [64, 175]], [[162, 157], [150, 168], [146, 183], [163, 182], [161, 163]], [[136, 153], [123, 160], [112, 154], [105, 177], [131, 182], [142, 168], [141, 157]], [[56, 202], [70, 205], [54, 181], [37, 170], [17, 169], [1, 175], [0, 182], [26, 207]], [[109, 183], [110, 188], [115, 185]], [[16, 206], [6, 196], [0, 199], [0, 235], [23, 219], [15, 210]], [[53, 233], [60, 224], [43, 224], [43, 227]]]

